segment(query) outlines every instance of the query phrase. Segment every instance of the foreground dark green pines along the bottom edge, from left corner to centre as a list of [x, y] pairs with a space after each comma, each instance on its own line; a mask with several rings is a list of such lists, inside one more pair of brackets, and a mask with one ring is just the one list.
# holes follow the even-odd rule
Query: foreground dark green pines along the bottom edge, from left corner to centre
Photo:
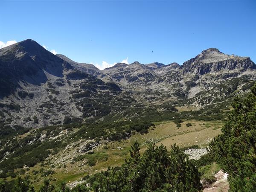
[[70, 189], [65, 181], [58, 185], [45, 178], [39, 190], [29, 176], [16, 180], [0, 180], [0, 192], [197, 192], [201, 190], [198, 169], [176, 145], [167, 154], [163, 145], [151, 143], [140, 156], [136, 141], [130, 151], [131, 157], [120, 167], [92, 175], [88, 182], [92, 187], [79, 184]]

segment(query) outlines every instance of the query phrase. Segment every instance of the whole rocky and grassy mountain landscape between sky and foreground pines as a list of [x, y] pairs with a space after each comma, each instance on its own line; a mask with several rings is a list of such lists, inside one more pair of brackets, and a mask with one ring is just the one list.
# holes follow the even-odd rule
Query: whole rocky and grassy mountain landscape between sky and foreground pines
[[136, 140], [141, 154], [148, 143], [207, 151], [256, 80], [249, 57], [215, 48], [182, 65], [99, 70], [28, 39], [0, 49], [0, 67], [0, 177], [26, 174], [35, 186], [92, 179], [123, 164]]

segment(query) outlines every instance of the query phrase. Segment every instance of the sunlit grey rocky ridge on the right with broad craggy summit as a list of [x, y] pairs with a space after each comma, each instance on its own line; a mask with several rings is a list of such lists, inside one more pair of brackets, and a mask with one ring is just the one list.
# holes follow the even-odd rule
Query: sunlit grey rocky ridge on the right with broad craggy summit
[[[118, 64], [102, 73], [123, 89], [136, 90], [133, 96], [137, 101], [164, 103], [188, 99], [190, 104], [200, 107], [207, 100], [224, 99], [248, 81], [254, 81], [255, 69], [248, 57], [226, 55], [209, 48], [181, 66], [157, 62], [143, 65], [136, 61], [130, 65]], [[196, 97], [202, 93], [203, 96]]]

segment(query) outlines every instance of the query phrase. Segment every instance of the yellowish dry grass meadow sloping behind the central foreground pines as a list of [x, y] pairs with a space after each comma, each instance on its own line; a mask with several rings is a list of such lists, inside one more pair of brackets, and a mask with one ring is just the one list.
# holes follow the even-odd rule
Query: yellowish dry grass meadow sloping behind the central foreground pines
[[[186, 123], [190, 122], [192, 126], [186, 127]], [[55, 171], [55, 174], [51, 175], [51, 178], [56, 179], [58, 183], [60, 180], [66, 180], [67, 182], [72, 182], [74, 180], [79, 180], [85, 174], [94, 174], [102, 170], [106, 170], [109, 166], [120, 166], [124, 163], [125, 158], [129, 157], [129, 150], [131, 149], [132, 143], [136, 140], [141, 143], [140, 152], [143, 153], [147, 148], [146, 141], [154, 140], [157, 145], [161, 143], [167, 147], [169, 150], [171, 145], [177, 143], [180, 147], [186, 147], [190, 145], [199, 145], [201, 147], [207, 146], [211, 138], [217, 136], [221, 132], [221, 127], [224, 124], [223, 122], [204, 122], [197, 120], [184, 121], [181, 124], [180, 128], [176, 127], [176, 124], [172, 121], [167, 122], [157, 122], [155, 123], [155, 128], [152, 126], [149, 128], [148, 134], [133, 134], [128, 140], [108, 142], [108, 149], [104, 149], [104, 144], [99, 145], [93, 151], [95, 153], [107, 154], [108, 160], [98, 160], [95, 166], [88, 166], [87, 159], [81, 160], [71, 164], [73, 157], [79, 156], [76, 152], [77, 147], [64, 149], [58, 154], [49, 157], [51, 159], [51, 165], [55, 167], [52, 170]], [[152, 130], [151, 130], [152, 129]], [[197, 143], [195, 143], [198, 141]], [[122, 149], [118, 149], [121, 147]], [[61, 162], [64, 157], [69, 157], [69, 160]], [[66, 164], [66, 168], [63, 165]], [[32, 169], [39, 170], [41, 167], [36, 165]], [[31, 169], [31, 170], [32, 170]], [[44, 167], [44, 169], [49, 169], [49, 165]], [[35, 178], [32, 176], [32, 178]], [[40, 177], [39, 177], [40, 178]], [[41, 179], [34, 179], [35, 185], [40, 184]]]

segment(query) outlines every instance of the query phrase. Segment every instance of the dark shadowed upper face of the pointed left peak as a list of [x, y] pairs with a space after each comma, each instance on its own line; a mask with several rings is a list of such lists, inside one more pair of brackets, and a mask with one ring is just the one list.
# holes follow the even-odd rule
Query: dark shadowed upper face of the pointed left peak
[[37, 42], [28, 39], [0, 49], [0, 97], [14, 93], [20, 84], [39, 85], [47, 75], [63, 77], [73, 67]]

